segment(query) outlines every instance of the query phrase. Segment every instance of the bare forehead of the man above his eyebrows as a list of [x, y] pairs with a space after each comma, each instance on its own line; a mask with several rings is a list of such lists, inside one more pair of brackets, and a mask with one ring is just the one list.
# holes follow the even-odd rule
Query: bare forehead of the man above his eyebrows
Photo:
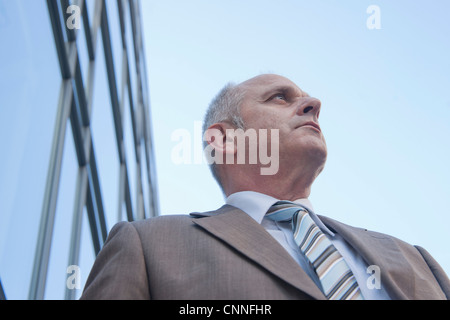
[[273, 74], [256, 76], [254, 78], [242, 82], [239, 86], [242, 89], [244, 89], [245, 96], [247, 96], [247, 98], [262, 97], [265, 94], [269, 94], [277, 90], [289, 90], [292, 91], [292, 93], [299, 96], [308, 96], [294, 82], [292, 82], [288, 78]]

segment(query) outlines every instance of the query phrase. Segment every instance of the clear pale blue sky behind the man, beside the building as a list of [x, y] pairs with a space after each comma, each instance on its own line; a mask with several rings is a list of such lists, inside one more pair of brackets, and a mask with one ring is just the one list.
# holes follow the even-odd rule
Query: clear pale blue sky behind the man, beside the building
[[[381, 29], [367, 28], [369, 5]], [[228, 81], [277, 73], [322, 101], [316, 212], [421, 245], [450, 274], [448, 1], [143, 0], [142, 11], [162, 214], [224, 202], [206, 164], [172, 161], [173, 132], [194, 139]]]

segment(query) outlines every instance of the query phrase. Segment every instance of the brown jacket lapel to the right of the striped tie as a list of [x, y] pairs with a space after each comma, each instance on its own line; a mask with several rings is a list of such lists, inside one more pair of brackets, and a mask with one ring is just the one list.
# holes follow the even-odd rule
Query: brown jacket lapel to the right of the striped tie
[[340, 234], [368, 265], [380, 267], [381, 282], [392, 299], [415, 299], [412, 267], [391, 237], [351, 227], [327, 217], [320, 216], [320, 219]]

